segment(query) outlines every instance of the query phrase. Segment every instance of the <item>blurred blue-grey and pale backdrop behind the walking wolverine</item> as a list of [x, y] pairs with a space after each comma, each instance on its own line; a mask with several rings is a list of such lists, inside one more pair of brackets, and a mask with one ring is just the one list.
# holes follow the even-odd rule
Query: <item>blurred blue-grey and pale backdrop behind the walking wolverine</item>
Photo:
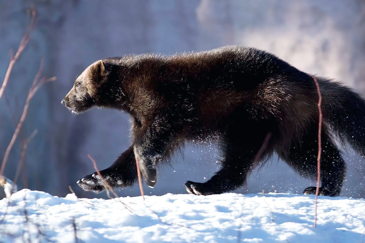
[[[92, 109], [73, 115], [61, 99], [77, 75], [96, 60], [156, 52], [204, 51], [225, 45], [253, 46], [276, 54], [293, 66], [342, 80], [365, 94], [365, 1], [362, 0], [0, 0], [0, 81], [9, 51], [18, 48], [38, 11], [31, 40], [16, 62], [0, 100], [0, 162], [22, 114], [42, 57], [43, 75], [57, 81], [43, 85], [31, 100], [22, 136], [30, 141], [18, 187], [65, 196], [71, 185], [79, 197], [106, 197], [83, 192], [76, 181], [94, 172], [87, 154], [105, 169], [129, 145], [129, 122], [116, 110]], [[12, 179], [21, 152], [20, 138], [11, 150], [4, 175]], [[216, 147], [187, 147], [159, 170], [147, 195], [187, 193], [184, 182], [203, 182], [217, 171]], [[365, 196], [365, 161], [352, 150], [342, 195]], [[250, 176], [239, 193], [302, 193], [314, 181], [301, 179], [275, 156]], [[2, 192], [1, 192], [2, 193]], [[126, 188], [120, 196], [137, 196]], [[1, 196], [1, 195], [0, 195]]]

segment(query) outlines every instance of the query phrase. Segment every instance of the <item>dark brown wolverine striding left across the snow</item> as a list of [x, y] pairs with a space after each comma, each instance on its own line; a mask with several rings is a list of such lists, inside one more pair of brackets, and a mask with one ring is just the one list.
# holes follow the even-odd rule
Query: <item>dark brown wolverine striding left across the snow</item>
[[[315, 77], [322, 96], [322, 157], [319, 194], [338, 196], [345, 162], [337, 137], [365, 155], [365, 101], [348, 87]], [[245, 185], [255, 166], [273, 153], [301, 176], [316, 177], [319, 96], [314, 76], [268, 52], [226, 46], [176, 55], [126, 55], [85, 69], [62, 100], [72, 113], [112, 108], [131, 118], [131, 145], [101, 176], [113, 188], [157, 183], [157, 167], [185, 144], [216, 142], [221, 169], [187, 191], [211, 195]], [[96, 174], [78, 185], [104, 190]], [[314, 194], [316, 187], [304, 189]]]

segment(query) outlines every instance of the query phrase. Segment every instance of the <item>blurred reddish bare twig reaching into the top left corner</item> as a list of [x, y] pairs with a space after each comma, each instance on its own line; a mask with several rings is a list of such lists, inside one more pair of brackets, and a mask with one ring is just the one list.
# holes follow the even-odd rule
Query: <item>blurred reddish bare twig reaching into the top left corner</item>
[[31, 9], [31, 14], [32, 14], [31, 23], [28, 25], [26, 31], [24, 32], [23, 38], [20, 41], [20, 44], [18, 47], [18, 51], [16, 51], [14, 56], [13, 56], [12, 51], [10, 52], [10, 63], [9, 63], [8, 69], [5, 73], [3, 84], [1, 85], [1, 88], [0, 88], [0, 99], [4, 94], [4, 90], [5, 90], [6, 85], [8, 84], [9, 77], [10, 77], [11, 71], [14, 67], [14, 64], [15, 64], [16, 60], [18, 60], [20, 54], [23, 52], [24, 48], [27, 46], [27, 44], [30, 40], [30, 34], [34, 30], [35, 23], [37, 21], [37, 16], [38, 16], [35, 8]]

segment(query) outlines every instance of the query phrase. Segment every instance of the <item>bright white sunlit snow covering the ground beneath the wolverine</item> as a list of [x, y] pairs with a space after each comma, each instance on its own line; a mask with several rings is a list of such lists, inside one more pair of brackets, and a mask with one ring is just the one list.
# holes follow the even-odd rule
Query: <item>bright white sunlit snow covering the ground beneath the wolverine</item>
[[[288, 193], [55, 197], [23, 189], [0, 201], [1, 242], [359, 242], [365, 200]], [[75, 239], [75, 236], [77, 240]]]

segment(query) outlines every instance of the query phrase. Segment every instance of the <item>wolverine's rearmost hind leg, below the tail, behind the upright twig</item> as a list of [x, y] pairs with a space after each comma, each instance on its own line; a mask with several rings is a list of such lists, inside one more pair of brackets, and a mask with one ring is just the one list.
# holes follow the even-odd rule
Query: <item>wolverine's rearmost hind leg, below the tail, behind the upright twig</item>
[[[300, 144], [293, 145], [284, 160], [301, 175], [316, 177], [318, 156], [318, 125], [312, 124], [301, 139]], [[345, 177], [345, 162], [338, 148], [327, 135], [326, 128], [322, 128], [322, 154], [320, 160], [320, 174], [322, 187], [319, 195], [338, 196], [341, 192]], [[304, 194], [315, 194], [316, 187], [308, 187]]]

